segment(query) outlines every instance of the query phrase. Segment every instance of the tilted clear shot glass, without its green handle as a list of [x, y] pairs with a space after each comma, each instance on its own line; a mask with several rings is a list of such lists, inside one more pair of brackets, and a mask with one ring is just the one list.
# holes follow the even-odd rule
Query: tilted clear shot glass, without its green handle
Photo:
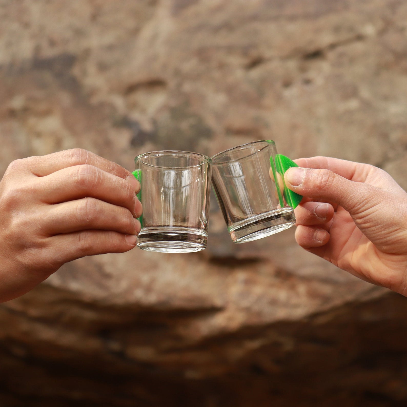
[[275, 165], [271, 171], [276, 154], [274, 141], [262, 140], [212, 157], [212, 185], [234, 243], [261, 239], [295, 224]]

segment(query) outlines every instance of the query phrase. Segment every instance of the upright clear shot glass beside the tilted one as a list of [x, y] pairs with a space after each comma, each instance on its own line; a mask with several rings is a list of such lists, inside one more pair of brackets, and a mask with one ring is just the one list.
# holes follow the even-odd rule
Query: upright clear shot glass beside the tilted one
[[186, 151], [138, 155], [142, 229], [137, 246], [151, 252], [189, 253], [206, 248], [212, 160]]

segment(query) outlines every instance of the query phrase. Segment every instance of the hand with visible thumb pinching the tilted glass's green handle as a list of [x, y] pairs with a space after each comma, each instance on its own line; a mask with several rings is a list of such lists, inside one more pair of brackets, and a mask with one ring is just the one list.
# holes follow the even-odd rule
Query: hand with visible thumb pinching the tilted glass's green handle
[[[355, 276], [407, 296], [407, 193], [368, 164], [295, 160], [284, 181], [303, 195], [298, 244]], [[324, 203], [325, 202], [325, 203]]]

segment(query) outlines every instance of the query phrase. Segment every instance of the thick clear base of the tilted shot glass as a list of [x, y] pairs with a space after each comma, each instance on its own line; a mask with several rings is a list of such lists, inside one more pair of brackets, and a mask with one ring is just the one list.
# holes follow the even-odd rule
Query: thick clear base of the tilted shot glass
[[293, 208], [282, 208], [252, 216], [229, 228], [234, 243], [245, 243], [281, 232], [295, 225]]

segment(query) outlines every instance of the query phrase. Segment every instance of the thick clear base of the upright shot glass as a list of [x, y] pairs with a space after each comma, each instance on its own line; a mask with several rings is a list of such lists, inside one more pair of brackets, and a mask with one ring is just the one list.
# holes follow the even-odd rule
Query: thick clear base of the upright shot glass
[[192, 253], [206, 248], [208, 233], [201, 229], [176, 226], [143, 228], [137, 247], [149, 252]]

